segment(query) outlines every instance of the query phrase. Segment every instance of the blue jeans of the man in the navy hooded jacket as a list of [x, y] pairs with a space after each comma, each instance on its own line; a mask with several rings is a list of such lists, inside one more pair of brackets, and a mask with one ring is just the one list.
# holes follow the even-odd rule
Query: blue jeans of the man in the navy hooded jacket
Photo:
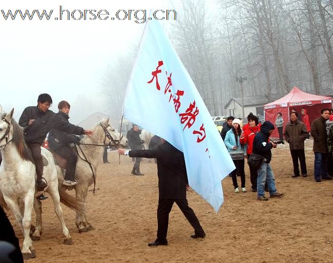
[[270, 167], [270, 164], [263, 163], [258, 169], [258, 178], [257, 178], [258, 197], [265, 195], [266, 178], [267, 178], [269, 194], [273, 195], [276, 193], [274, 174], [272, 168]]

